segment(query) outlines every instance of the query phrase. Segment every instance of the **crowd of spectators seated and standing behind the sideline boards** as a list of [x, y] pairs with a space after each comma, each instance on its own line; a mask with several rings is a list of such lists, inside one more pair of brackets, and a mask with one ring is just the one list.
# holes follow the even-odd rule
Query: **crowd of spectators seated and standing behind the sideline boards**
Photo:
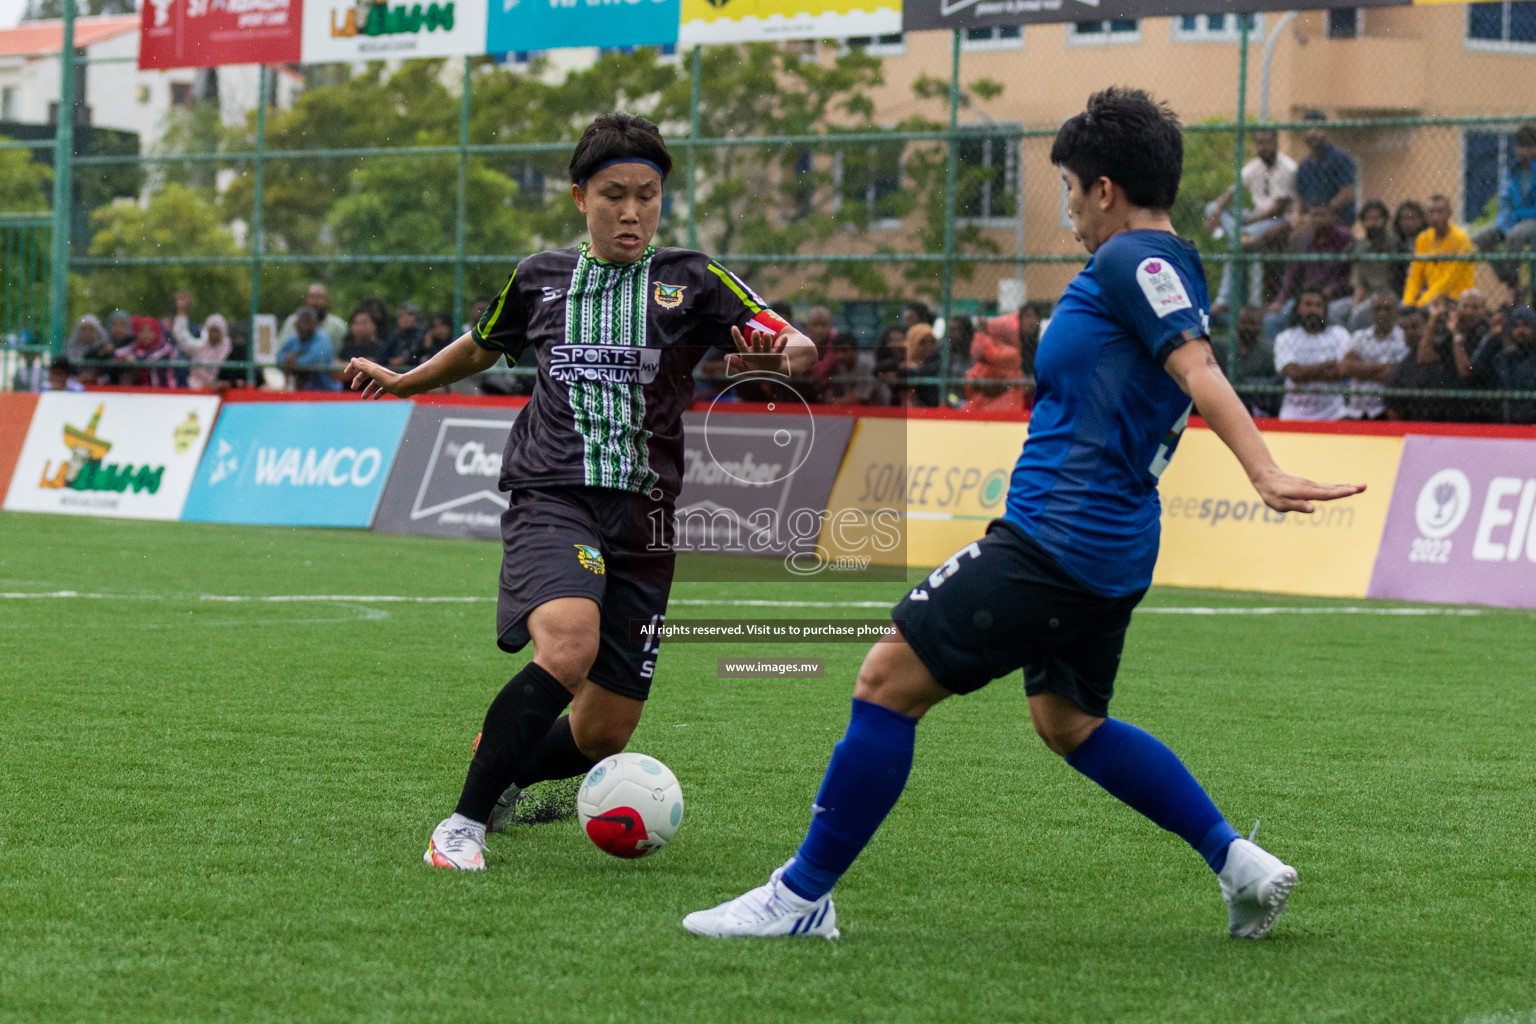
[[[1430, 195], [1390, 210], [1361, 201], [1352, 157], [1330, 140], [1322, 114], [1304, 120], [1301, 160], [1279, 152], [1278, 134], [1253, 132], [1255, 157], [1243, 167], [1244, 203], [1227, 189], [1206, 207], [1206, 229], [1221, 243], [1236, 233], [1256, 264], [1252, 302], [1232, 310], [1236, 281], [1226, 264], [1212, 304], [1213, 325], [1230, 322], [1233, 342], [1218, 359], [1256, 415], [1281, 419], [1456, 419], [1536, 422], [1536, 401], [1498, 391], [1536, 390], [1536, 312], [1521, 269], [1536, 272], [1536, 126], [1513, 135], [1493, 223], [1476, 233], [1453, 220], [1452, 201]], [[1230, 243], [1227, 243], [1230, 244]], [[1490, 263], [1498, 295], [1475, 287], [1475, 263]], [[468, 322], [488, 307], [478, 299]], [[1035, 347], [1049, 302], [1026, 302], [1001, 316], [937, 321], [908, 302], [876, 347], [839, 330], [833, 312], [803, 319], [777, 307], [816, 342], [819, 359], [799, 381], [733, 379], [725, 350], [699, 364], [699, 396], [776, 401], [794, 395], [833, 405], [957, 407], [1023, 411], [1034, 393]], [[372, 298], [347, 319], [323, 284], [276, 332], [275, 365], [255, 382], [306, 391], [343, 388], [341, 368], [367, 358], [395, 368], [418, 365], [468, 324], [422, 315], [413, 302], [393, 313]], [[198, 318], [194, 296], [177, 292], [164, 316], [115, 310], [103, 324], [80, 318], [61, 358], [31, 367], [20, 387], [80, 390], [91, 385], [220, 390], [252, 381], [250, 332], [218, 313]], [[522, 365], [531, 365], [531, 355]], [[531, 390], [528, 375], [481, 375], [488, 393]], [[1456, 391], [1468, 391], [1465, 398]]]

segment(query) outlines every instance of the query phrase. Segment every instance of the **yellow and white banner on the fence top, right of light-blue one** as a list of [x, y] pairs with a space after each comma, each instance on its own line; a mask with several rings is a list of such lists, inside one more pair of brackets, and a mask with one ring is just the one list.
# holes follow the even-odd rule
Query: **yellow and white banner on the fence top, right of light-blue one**
[[682, 43], [762, 43], [902, 31], [902, 3], [879, 0], [682, 0]]

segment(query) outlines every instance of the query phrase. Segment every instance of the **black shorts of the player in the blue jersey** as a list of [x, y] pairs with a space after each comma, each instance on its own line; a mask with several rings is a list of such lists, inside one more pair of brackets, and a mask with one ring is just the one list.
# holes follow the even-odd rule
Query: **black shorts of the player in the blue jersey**
[[1130, 609], [1144, 593], [1095, 594], [1023, 530], [994, 519], [891, 619], [945, 689], [969, 694], [1023, 668], [1026, 694], [1058, 694], [1104, 717]]

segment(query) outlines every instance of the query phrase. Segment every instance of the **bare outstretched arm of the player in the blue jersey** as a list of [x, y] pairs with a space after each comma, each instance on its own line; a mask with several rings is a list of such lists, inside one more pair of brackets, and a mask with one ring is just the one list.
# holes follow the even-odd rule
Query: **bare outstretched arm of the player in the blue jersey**
[[1313, 484], [1281, 470], [1258, 427], [1253, 425], [1253, 418], [1243, 407], [1243, 399], [1221, 373], [1221, 365], [1206, 339], [1184, 342], [1163, 365], [1193, 399], [1195, 410], [1221, 442], [1243, 464], [1258, 496], [1275, 511], [1310, 513], [1313, 502], [1330, 502], [1366, 490], [1364, 484]]

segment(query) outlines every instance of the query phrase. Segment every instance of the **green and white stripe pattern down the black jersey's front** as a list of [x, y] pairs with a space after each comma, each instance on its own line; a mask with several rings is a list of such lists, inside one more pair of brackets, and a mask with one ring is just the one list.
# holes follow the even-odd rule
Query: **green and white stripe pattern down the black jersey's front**
[[[648, 249], [630, 264], [594, 259], [581, 247], [565, 293], [565, 342], [576, 345], [645, 345], [645, 295], [651, 276]], [[628, 384], [573, 381], [568, 387], [588, 487], [644, 493], [656, 487], [645, 430], [645, 388], [636, 373]]]

